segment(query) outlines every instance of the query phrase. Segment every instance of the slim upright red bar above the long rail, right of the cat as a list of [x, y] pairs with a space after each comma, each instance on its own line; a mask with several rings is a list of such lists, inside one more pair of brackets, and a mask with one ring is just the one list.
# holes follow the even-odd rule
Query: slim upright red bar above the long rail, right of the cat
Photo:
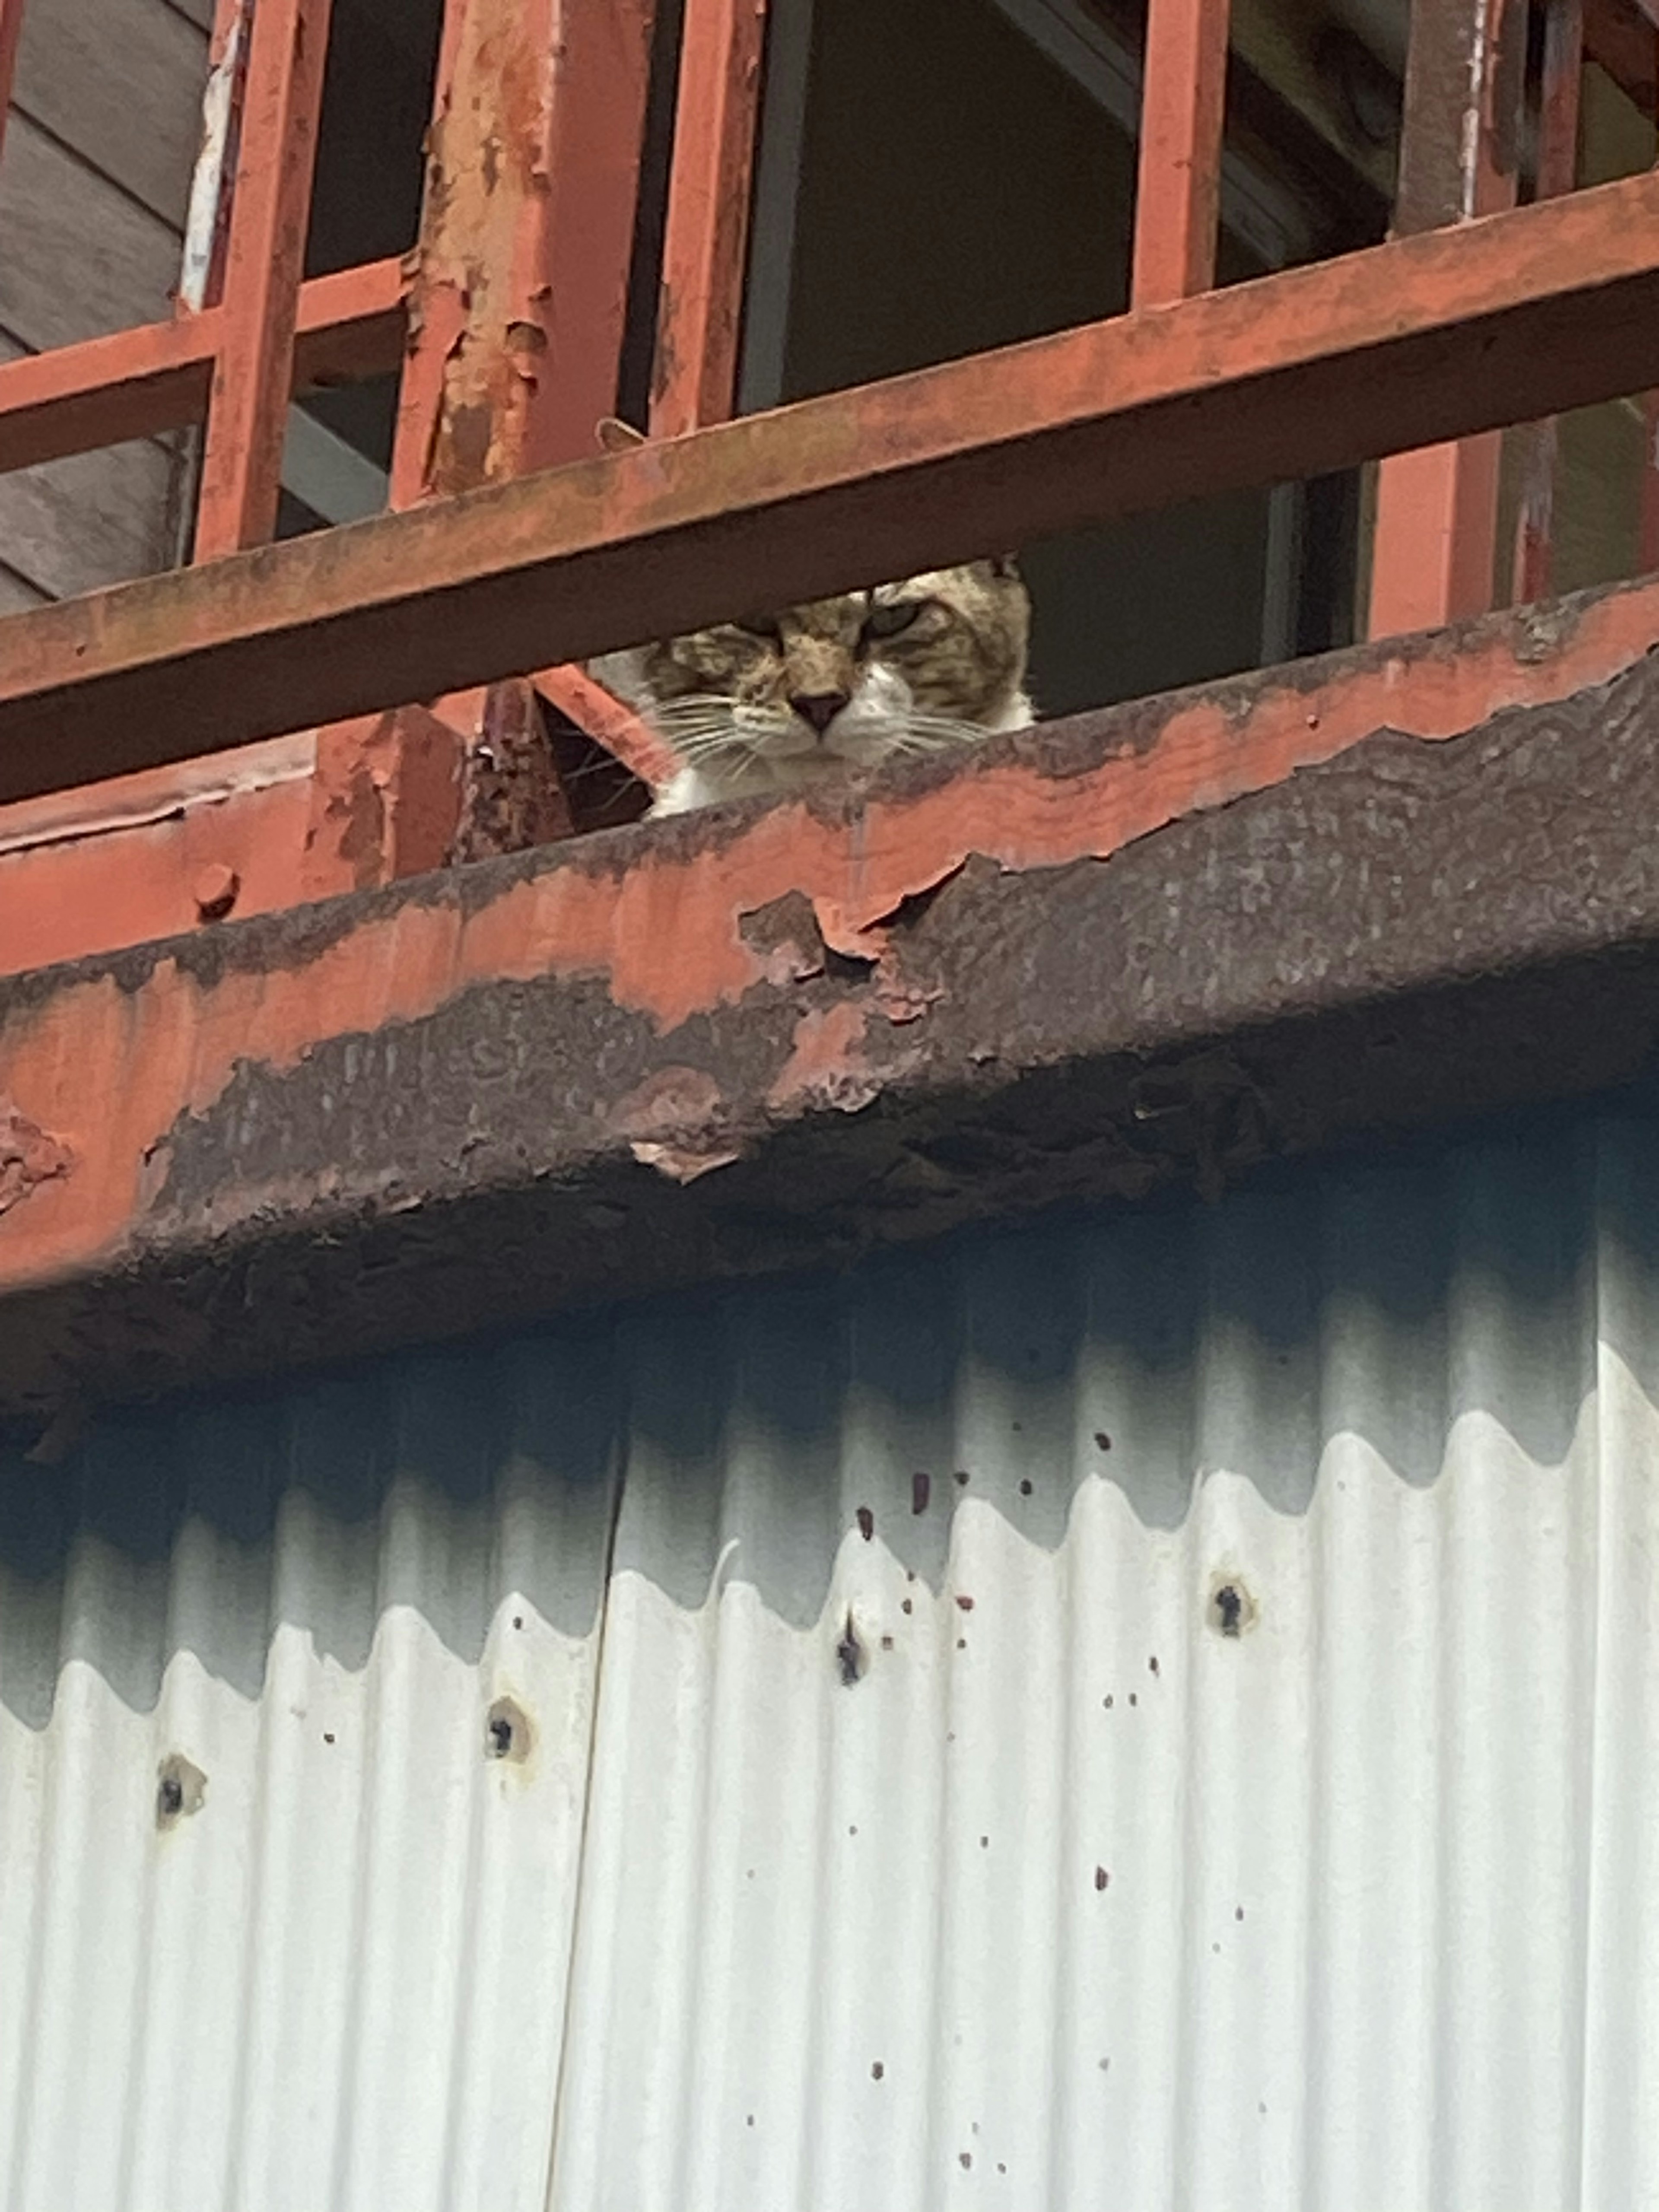
[[1130, 281], [1137, 307], [1214, 283], [1225, 93], [1228, 0], [1150, 0]]

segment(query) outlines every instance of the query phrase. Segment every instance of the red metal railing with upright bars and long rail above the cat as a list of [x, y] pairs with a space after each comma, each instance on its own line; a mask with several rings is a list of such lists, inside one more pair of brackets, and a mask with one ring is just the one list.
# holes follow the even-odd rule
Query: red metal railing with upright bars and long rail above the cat
[[[403, 699], [476, 737], [535, 668], [522, 681], [655, 772], [573, 659], [1385, 456], [1371, 628], [1436, 624], [1493, 599], [1493, 431], [1526, 420], [1517, 580], [1542, 588], [1548, 418], [1659, 385], [1659, 184], [1571, 190], [1582, 51], [1632, 82], [1644, 18], [1546, 4], [1546, 204], [1515, 206], [1524, 0], [1418, 0], [1396, 239], [1214, 292], [1225, 0], [1150, 0], [1133, 312], [730, 422], [765, 4], [688, 0], [653, 436], [588, 460], [615, 405], [655, 0], [449, 0], [420, 246], [310, 283], [327, 0], [259, 0], [210, 303], [0, 365], [0, 467], [206, 422], [195, 571], [0, 624], [0, 799]], [[18, 20], [0, 0], [0, 84]], [[292, 394], [398, 361], [394, 513], [250, 560]]]

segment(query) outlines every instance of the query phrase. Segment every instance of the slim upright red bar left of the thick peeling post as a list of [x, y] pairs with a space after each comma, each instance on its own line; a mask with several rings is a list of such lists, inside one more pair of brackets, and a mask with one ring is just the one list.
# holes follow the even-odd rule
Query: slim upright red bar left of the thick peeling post
[[276, 526], [330, 0], [261, 0], [248, 49], [197, 560]]

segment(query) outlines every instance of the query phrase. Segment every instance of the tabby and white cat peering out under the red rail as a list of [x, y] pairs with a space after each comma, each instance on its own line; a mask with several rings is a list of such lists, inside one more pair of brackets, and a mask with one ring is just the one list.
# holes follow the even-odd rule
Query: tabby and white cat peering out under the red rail
[[[608, 451], [637, 438], [599, 425]], [[684, 763], [664, 816], [1024, 730], [1029, 633], [1015, 562], [975, 560], [599, 655], [588, 675]]]

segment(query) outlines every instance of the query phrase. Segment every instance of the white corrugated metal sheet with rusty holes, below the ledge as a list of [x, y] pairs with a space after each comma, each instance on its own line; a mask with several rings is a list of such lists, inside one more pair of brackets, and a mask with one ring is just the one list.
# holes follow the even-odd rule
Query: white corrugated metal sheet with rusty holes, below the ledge
[[9, 2212], [1659, 2203], [1657, 1201], [1557, 1119], [13, 1467]]

